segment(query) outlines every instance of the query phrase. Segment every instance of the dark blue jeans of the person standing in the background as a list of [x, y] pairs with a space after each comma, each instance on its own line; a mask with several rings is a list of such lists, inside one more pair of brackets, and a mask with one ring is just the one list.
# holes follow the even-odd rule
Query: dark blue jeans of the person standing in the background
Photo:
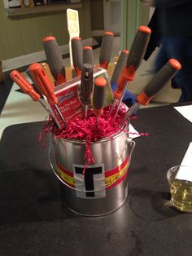
[[178, 60], [182, 66], [174, 77], [174, 82], [181, 88], [179, 101], [192, 101], [192, 37], [164, 37], [155, 60], [155, 71], [162, 68], [169, 59]]

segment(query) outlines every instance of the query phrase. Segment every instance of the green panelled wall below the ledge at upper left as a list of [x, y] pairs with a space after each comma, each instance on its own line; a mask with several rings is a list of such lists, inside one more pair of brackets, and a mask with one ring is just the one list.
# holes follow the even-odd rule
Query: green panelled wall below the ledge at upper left
[[[91, 37], [90, 2], [78, 9], [81, 38]], [[54, 35], [60, 45], [68, 43], [66, 11], [8, 18], [0, 1], [0, 60], [42, 51], [42, 38]]]

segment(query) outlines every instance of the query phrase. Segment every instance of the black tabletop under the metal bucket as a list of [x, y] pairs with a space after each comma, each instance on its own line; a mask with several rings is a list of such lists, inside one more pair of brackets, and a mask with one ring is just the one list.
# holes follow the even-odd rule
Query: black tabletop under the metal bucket
[[141, 109], [129, 196], [102, 217], [60, 205], [43, 122], [9, 126], [0, 142], [0, 255], [191, 255], [192, 214], [170, 207], [167, 170], [181, 164], [192, 125], [172, 106]]

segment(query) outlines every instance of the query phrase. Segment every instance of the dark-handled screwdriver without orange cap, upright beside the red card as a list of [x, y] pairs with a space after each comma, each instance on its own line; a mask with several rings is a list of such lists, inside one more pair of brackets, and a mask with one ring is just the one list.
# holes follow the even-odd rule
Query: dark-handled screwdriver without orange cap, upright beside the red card
[[85, 120], [87, 109], [90, 104], [90, 94], [93, 90], [93, 65], [83, 64], [81, 72], [81, 103], [84, 104]]

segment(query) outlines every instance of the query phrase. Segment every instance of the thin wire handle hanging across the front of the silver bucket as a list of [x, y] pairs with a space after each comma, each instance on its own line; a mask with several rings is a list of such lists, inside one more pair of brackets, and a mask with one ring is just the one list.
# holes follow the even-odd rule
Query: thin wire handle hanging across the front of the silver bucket
[[[94, 189], [94, 190], [85, 190], [85, 189], [83, 189], [83, 190], [81, 190], [81, 189], [77, 189], [77, 188], [73, 188], [72, 186], [70, 186], [68, 183], [66, 183], [66, 182], [64, 182], [64, 180], [63, 179], [61, 179], [60, 177], [59, 177], [59, 174], [57, 173], [57, 170], [55, 170], [55, 167], [54, 167], [54, 164], [53, 164], [53, 162], [52, 162], [52, 160], [51, 160], [51, 142], [52, 142], [52, 139], [51, 139], [51, 135], [50, 135], [50, 138], [49, 138], [49, 148], [48, 148], [48, 159], [49, 159], [49, 162], [50, 162], [50, 167], [51, 167], [51, 169], [53, 170], [53, 172], [54, 172], [54, 174], [55, 174], [55, 176], [59, 179], [59, 181], [61, 182], [61, 183], [63, 183], [66, 187], [68, 187], [68, 188], [71, 188], [72, 190], [74, 190], [74, 191], [76, 191], [76, 192], [97, 192], [97, 191], [101, 191], [101, 190], [103, 190], [103, 189], [106, 189], [106, 188], [108, 188], [108, 187], [111, 187], [114, 183], [116, 183], [117, 181], [118, 181], [118, 179], [117, 180], [115, 180], [114, 182], [112, 182], [112, 183], [110, 183], [109, 185], [107, 185], [107, 186], [105, 186], [105, 187], [103, 187], [103, 188], [98, 188], [98, 189]], [[127, 146], [128, 146], [128, 144], [130, 143], [130, 153], [129, 153], [129, 165], [130, 165], [130, 161], [131, 161], [131, 156], [132, 156], [132, 152], [133, 152], [133, 148], [135, 147], [135, 142], [132, 140], [132, 139], [130, 139], [130, 138], [127, 138], [126, 139], [126, 143], [127, 143]], [[129, 146], [128, 146], [129, 147]], [[127, 147], [127, 148], [128, 148]], [[129, 166], [128, 166], [129, 167]], [[120, 178], [119, 178], [120, 179]]]

